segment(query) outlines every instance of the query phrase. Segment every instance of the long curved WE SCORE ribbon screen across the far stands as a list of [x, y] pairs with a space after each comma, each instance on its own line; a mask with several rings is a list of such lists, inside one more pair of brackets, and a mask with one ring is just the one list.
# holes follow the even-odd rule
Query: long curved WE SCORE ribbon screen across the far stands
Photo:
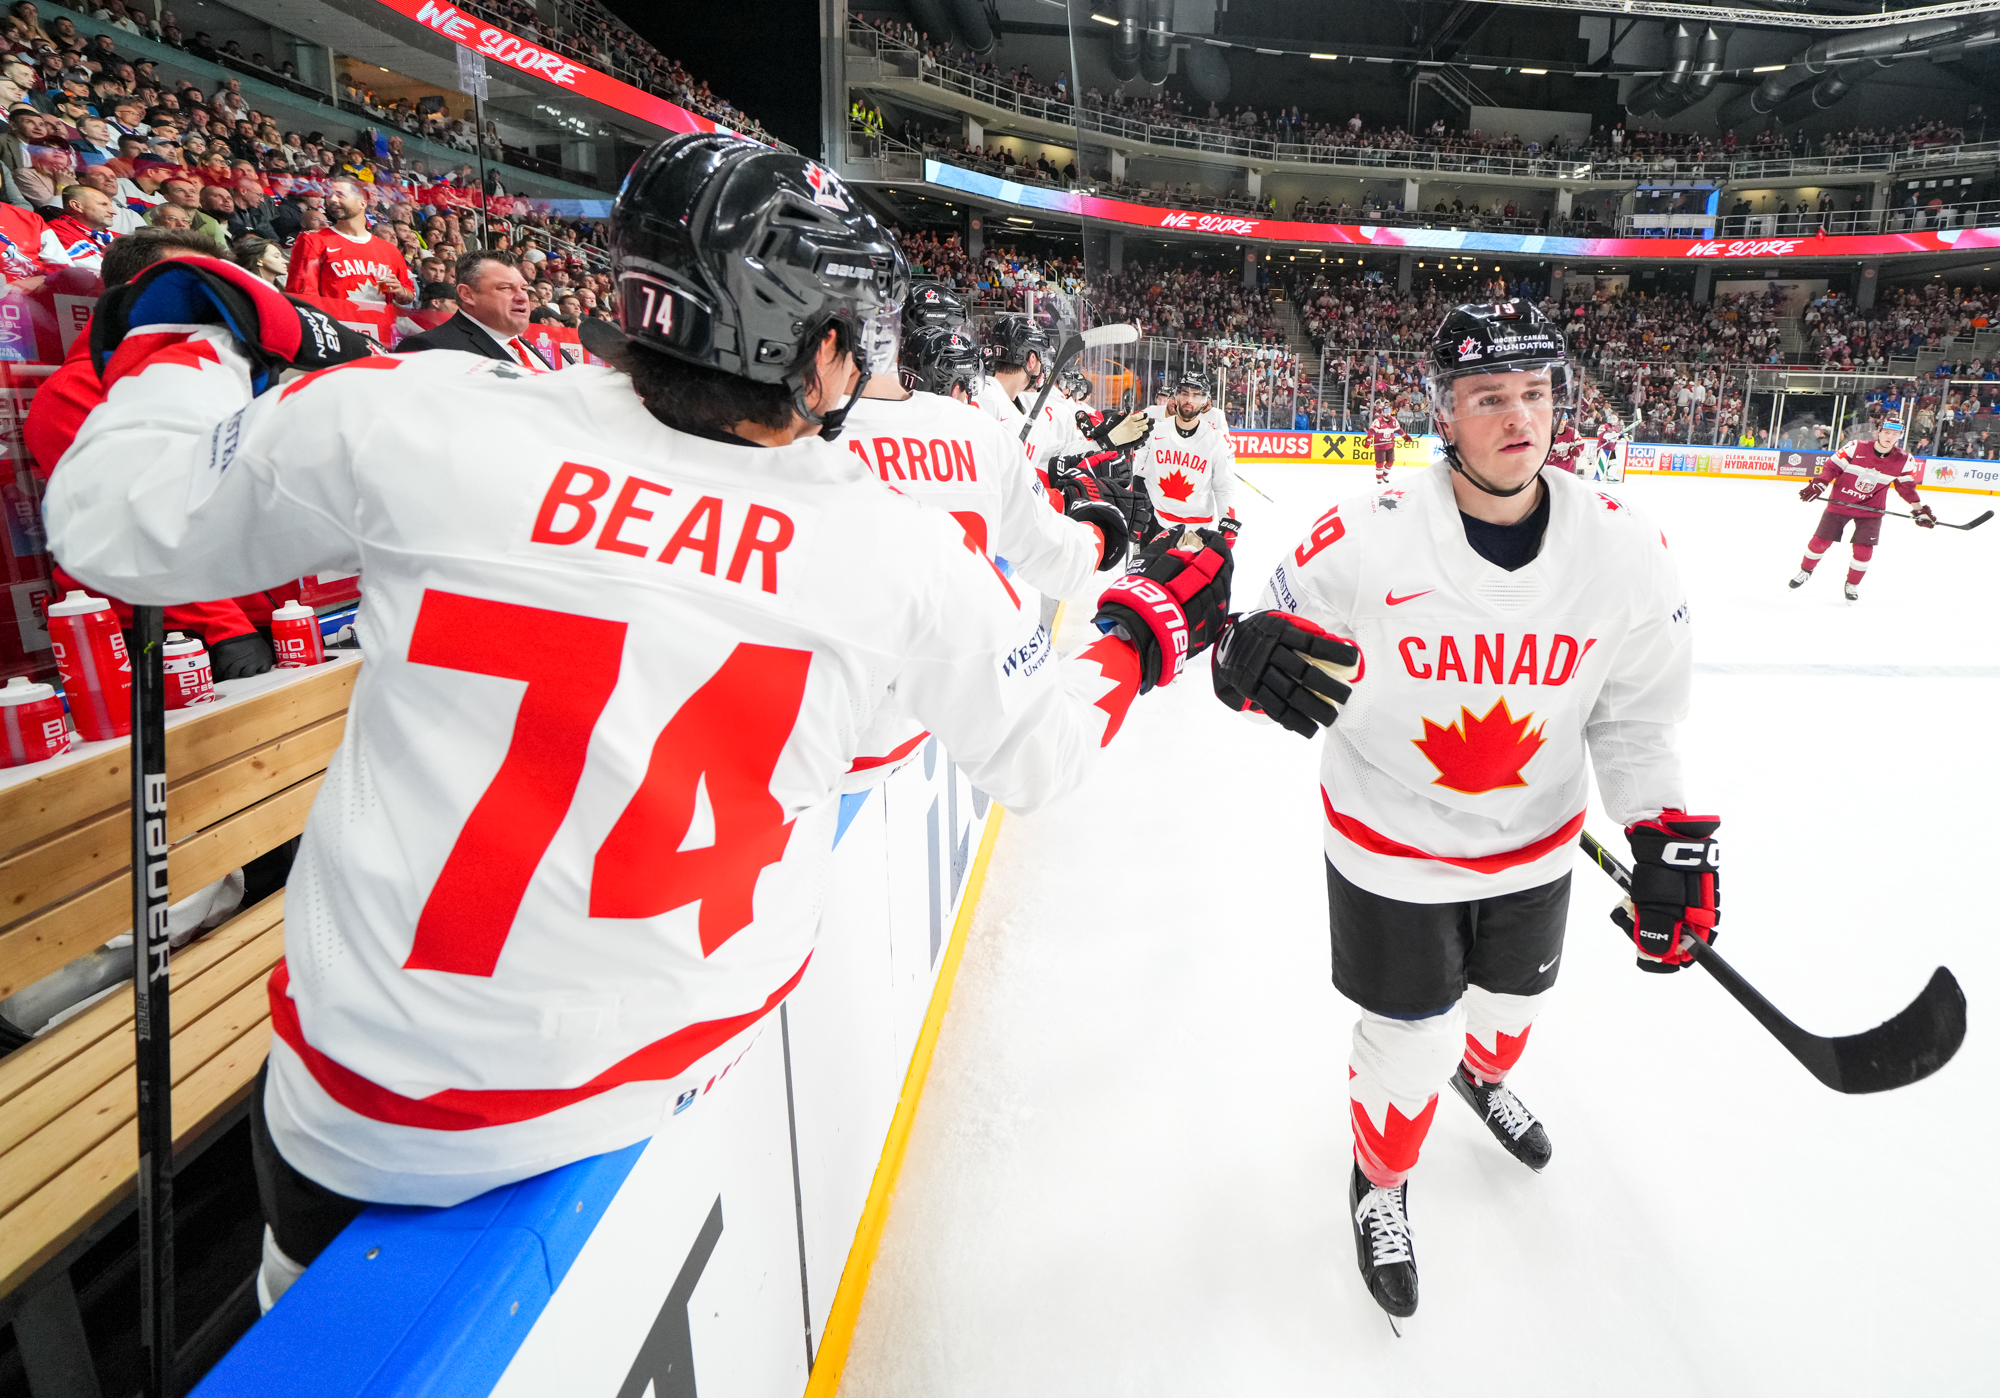
[[1544, 238], [1540, 234], [1466, 232], [1460, 228], [1384, 228], [1378, 224], [1306, 224], [1288, 218], [1248, 218], [1242, 214], [1198, 214], [1154, 208], [1124, 200], [1016, 184], [976, 170], [960, 170], [942, 160], [924, 162], [924, 178], [948, 190], [982, 198], [1074, 214], [1128, 228], [1178, 228], [1218, 238], [1276, 244], [1350, 244], [1362, 248], [1410, 248], [1412, 252], [1516, 252], [1538, 258], [1646, 258], [1652, 262], [1730, 262], [1736, 258], [1880, 258], [1910, 252], [1972, 252], [2000, 248], [2000, 228], [1926, 228], [1902, 234], [1858, 238]]

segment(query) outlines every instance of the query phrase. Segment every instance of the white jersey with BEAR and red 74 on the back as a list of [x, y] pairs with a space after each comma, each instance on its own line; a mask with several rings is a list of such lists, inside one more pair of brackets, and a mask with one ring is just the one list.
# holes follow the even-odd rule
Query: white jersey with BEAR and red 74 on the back
[[958, 522], [838, 442], [712, 442], [612, 370], [456, 352], [252, 402], [226, 340], [162, 338], [112, 362], [50, 546], [152, 604], [368, 580], [266, 1094], [342, 1194], [452, 1204], [650, 1136], [804, 974], [890, 690], [1014, 808], [1136, 690], [1130, 646], [1058, 660]]

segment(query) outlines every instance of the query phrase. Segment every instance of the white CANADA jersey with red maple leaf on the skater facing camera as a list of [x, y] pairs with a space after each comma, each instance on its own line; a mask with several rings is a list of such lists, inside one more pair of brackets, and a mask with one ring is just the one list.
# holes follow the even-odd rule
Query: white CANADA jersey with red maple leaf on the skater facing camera
[[1674, 724], [1694, 648], [1666, 536], [1564, 472], [1540, 556], [1466, 542], [1450, 466], [1342, 500], [1262, 606], [1362, 650], [1320, 760], [1326, 858], [1404, 902], [1534, 888], [1572, 864], [1584, 752], [1620, 824], [1682, 806]]

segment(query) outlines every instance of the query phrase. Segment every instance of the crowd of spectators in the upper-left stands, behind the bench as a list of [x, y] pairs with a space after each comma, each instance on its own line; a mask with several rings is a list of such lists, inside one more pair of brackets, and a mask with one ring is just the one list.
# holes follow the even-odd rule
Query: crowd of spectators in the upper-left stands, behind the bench
[[282, 132], [238, 80], [214, 92], [168, 84], [116, 44], [84, 44], [66, 16], [44, 28], [34, 0], [16, 0], [0, 24], [0, 276], [20, 294], [56, 272], [64, 290], [88, 294], [104, 250], [146, 226], [206, 234], [218, 256], [282, 284], [292, 244], [326, 228], [328, 200], [352, 190], [368, 228], [410, 268], [416, 324], [448, 314], [452, 268], [468, 250], [516, 254], [540, 320], [610, 314], [596, 224], [482, 194], [470, 164], [426, 170], [402, 158], [398, 138], [364, 150]]

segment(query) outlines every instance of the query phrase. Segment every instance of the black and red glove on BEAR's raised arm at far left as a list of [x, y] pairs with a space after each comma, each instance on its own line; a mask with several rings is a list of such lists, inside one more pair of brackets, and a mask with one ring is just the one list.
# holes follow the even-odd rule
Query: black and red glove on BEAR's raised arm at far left
[[224, 326], [250, 360], [250, 390], [262, 394], [288, 368], [316, 370], [376, 354], [318, 306], [220, 258], [166, 258], [98, 298], [90, 316], [90, 360], [106, 388], [122, 372], [118, 348], [148, 326]]

